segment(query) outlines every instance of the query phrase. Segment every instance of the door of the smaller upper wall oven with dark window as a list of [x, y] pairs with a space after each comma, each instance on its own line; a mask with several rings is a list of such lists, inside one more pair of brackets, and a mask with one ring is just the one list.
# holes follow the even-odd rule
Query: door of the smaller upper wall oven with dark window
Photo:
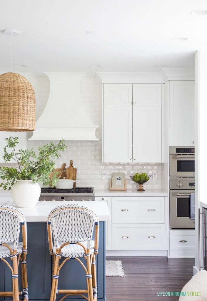
[[195, 176], [194, 156], [170, 155], [170, 176]]

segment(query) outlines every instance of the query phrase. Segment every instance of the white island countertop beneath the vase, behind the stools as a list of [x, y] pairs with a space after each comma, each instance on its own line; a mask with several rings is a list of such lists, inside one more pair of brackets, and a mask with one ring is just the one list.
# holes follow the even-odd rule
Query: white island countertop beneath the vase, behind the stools
[[[4, 203], [4, 205], [14, 206], [14, 203]], [[65, 203], [64, 203], [65, 204]], [[71, 203], [70, 203], [71, 204]], [[74, 203], [73, 203], [74, 204]], [[18, 208], [26, 218], [26, 222], [46, 222], [49, 212], [57, 206], [63, 205], [63, 202], [38, 202], [35, 207], [32, 208]], [[85, 203], [84, 203], [85, 205]], [[110, 221], [110, 212], [107, 206], [107, 202], [87, 202], [85, 205], [93, 209], [99, 218], [99, 221]]]

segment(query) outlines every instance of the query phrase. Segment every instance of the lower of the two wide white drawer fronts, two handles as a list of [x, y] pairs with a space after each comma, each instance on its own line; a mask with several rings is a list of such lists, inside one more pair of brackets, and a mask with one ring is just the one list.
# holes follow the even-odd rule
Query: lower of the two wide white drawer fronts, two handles
[[112, 224], [112, 250], [165, 250], [165, 225]]

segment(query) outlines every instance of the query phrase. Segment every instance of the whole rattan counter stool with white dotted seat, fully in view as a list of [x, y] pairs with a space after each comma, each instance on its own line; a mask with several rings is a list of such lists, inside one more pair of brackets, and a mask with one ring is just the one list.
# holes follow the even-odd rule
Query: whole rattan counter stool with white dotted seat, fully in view
[[[92, 240], [95, 226], [95, 239]], [[57, 293], [66, 293], [62, 301], [69, 295], [81, 295], [88, 301], [97, 300], [96, 262], [98, 253], [99, 219], [97, 214], [80, 204], [64, 204], [54, 208], [48, 215], [48, 241], [50, 254], [54, 256], [52, 288], [50, 301], [55, 301]], [[54, 246], [52, 241], [54, 240]], [[60, 264], [60, 258], [65, 258]], [[79, 259], [86, 259], [86, 266]], [[60, 269], [68, 259], [76, 259], [86, 273], [87, 290], [58, 290]], [[87, 294], [88, 298], [83, 294]]]

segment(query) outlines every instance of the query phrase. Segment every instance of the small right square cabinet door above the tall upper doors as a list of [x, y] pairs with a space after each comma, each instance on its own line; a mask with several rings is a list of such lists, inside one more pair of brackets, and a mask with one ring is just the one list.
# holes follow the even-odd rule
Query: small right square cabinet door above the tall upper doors
[[162, 107], [162, 84], [133, 84], [133, 107]]

